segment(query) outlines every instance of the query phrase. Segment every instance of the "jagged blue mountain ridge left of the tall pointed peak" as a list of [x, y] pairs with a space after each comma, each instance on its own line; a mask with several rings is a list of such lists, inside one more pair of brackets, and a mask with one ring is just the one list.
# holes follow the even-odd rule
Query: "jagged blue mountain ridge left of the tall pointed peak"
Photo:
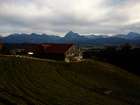
[[51, 43], [59, 42], [60, 37], [47, 34], [11, 34], [3, 38], [5, 43]]

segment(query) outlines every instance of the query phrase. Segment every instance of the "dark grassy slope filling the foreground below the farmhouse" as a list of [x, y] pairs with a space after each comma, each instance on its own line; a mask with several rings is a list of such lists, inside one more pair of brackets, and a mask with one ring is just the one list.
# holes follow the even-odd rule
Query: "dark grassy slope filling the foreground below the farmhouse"
[[0, 105], [140, 105], [140, 78], [98, 61], [0, 57]]

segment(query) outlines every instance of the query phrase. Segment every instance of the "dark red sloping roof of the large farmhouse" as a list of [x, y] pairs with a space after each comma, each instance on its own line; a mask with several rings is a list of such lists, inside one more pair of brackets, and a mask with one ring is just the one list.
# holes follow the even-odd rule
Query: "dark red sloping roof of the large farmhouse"
[[42, 44], [46, 53], [64, 54], [73, 44]]

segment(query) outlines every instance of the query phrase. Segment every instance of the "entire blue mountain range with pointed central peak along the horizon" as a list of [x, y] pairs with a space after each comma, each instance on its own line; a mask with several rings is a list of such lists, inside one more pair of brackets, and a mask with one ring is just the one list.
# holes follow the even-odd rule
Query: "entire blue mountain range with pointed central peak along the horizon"
[[73, 31], [64, 37], [48, 34], [10, 34], [0, 37], [3, 43], [74, 43], [78, 45], [118, 45], [124, 43], [140, 44], [140, 34], [129, 32], [128, 34], [108, 35], [80, 35]]

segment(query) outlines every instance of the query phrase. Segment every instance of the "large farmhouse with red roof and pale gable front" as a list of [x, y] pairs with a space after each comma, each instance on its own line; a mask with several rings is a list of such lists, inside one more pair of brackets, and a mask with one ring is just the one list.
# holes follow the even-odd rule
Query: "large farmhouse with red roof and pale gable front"
[[74, 44], [42, 44], [43, 56], [66, 62], [81, 61], [82, 53]]

